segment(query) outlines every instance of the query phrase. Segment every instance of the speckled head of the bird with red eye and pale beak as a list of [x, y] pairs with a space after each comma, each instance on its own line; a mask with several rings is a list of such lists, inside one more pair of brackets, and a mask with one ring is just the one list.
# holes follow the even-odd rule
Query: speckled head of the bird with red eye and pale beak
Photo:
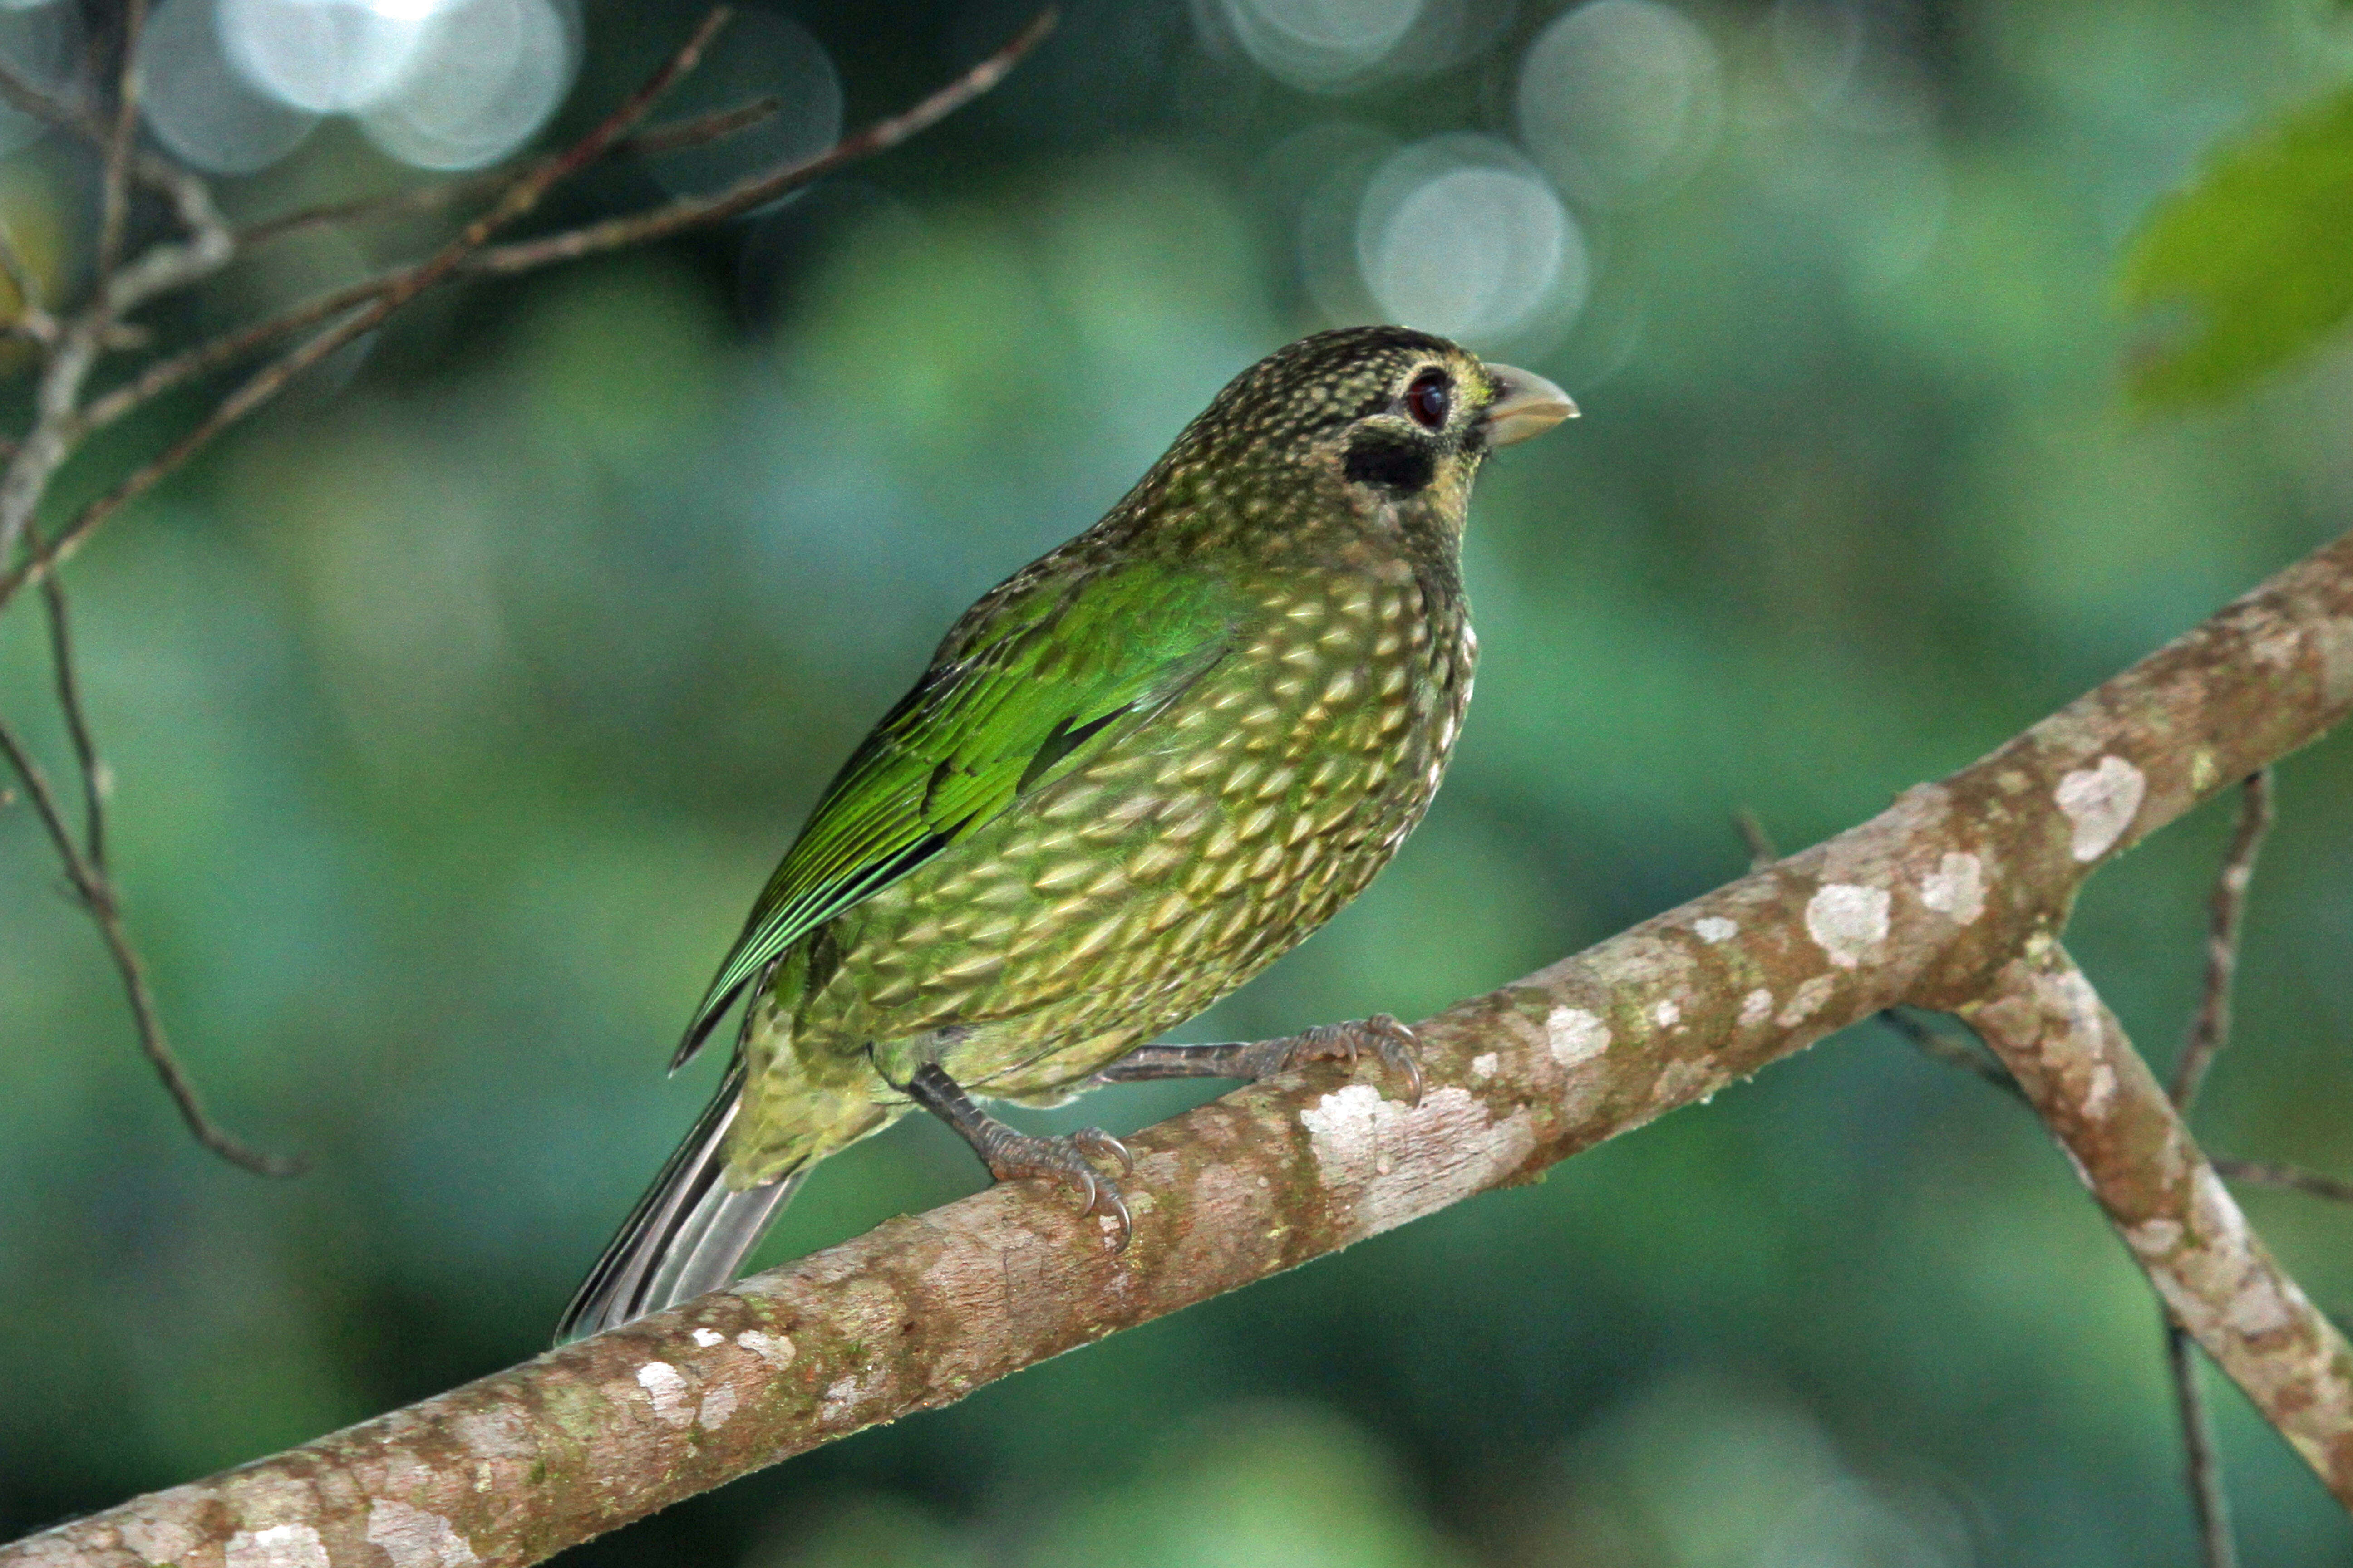
[[1344, 327], [1235, 376], [1160, 473], [1172, 501], [1266, 531], [1421, 520], [1459, 534], [1480, 461], [1574, 414], [1544, 376], [1445, 339]]

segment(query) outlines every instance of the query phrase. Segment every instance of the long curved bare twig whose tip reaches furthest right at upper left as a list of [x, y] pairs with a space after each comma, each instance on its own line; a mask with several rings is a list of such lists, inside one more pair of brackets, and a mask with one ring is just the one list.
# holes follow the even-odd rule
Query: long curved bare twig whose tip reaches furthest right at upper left
[[[866, 129], [845, 136], [842, 141], [833, 143], [816, 158], [807, 158], [802, 162], [786, 165], [784, 169], [758, 174], [744, 181], [741, 186], [722, 190], [720, 195], [713, 197], [678, 200], [666, 207], [654, 207], [652, 212], [640, 212], [624, 219], [605, 219], [600, 223], [588, 223], [586, 228], [546, 235], [541, 240], [522, 240], [515, 244], [487, 247], [480, 254], [468, 256], [466, 263], [459, 268], [459, 273], [496, 273], [496, 275], [525, 273], [529, 268], [548, 266], [555, 261], [569, 261], [574, 256], [619, 249], [624, 244], [635, 244], [645, 240], [659, 240], [678, 230], [694, 228], [696, 223], [715, 223], [720, 219], [751, 212], [753, 207], [765, 207], [767, 202], [774, 202], [776, 197], [788, 195], [791, 190], [798, 190], [800, 186], [807, 186], [816, 179], [824, 179], [826, 174], [833, 174], [835, 169], [842, 169], [861, 158], [887, 153], [889, 148], [899, 146], [915, 132], [922, 132], [944, 120], [946, 115], [955, 113], [958, 108], [962, 108], [965, 103], [969, 103], [972, 99], [976, 99], [979, 94], [988, 92], [1000, 80], [1005, 80], [1005, 73], [1012, 71], [1024, 54], [1035, 49], [1045, 40], [1045, 35], [1054, 31], [1054, 21], [1056, 21], [1054, 7], [1038, 12], [1031, 19], [1031, 24], [1021, 28], [1021, 33], [1014, 35], [1005, 47], [1000, 47], [995, 54], [965, 71], [960, 78], [955, 78], [932, 96], [922, 99], [920, 103], [899, 115], [878, 120], [875, 125], [868, 125]], [[682, 132], [694, 125], [696, 122], [689, 120], [678, 129]], [[661, 134], [666, 132], [649, 132], [647, 139]], [[292, 223], [292, 216], [287, 221]], [[376, 273], [374, 277], [362, 277], [360, 282], [329, 289], [327, 294], [292, 306], [282, 315], [254, 322], [249, 327], [238, 327], [235, 331], [226, 331], [216, 339], [181, 350], [169, 360], [158, 360], [155, 364], [146, 367], [144, 371], [139, 371], [122, 386], [113, 388], [111, 393], [94, 397], [89, 407], [82, 411], [82, 430], [96, 430], [101, 425], [111, 425], [132, 409], [139, 409], [148, 400], [160, 397], [172, 388], [186, 386], [188, 381], [207, 376], [216, 369], [226, 369], [259, 353], [261, 348], [268, 348], [280, 339], [289, 339], [296, 331], [306, 331], [320, 322], [334, 320], [344, 310], [353, 310], [372, 299], [381, 299], [391, 289], [405, 289], [414, 280], [414, 275], [416, 275], [414, 266], [388, 268], [384, 273]], [[42, 562], [33, 564], [33, 571], [42, 569], [45, 569]], [[16, 581], [0, 578], [0, 602], [7, 602], [7, 597], [16, 588], [19, 588]]]

